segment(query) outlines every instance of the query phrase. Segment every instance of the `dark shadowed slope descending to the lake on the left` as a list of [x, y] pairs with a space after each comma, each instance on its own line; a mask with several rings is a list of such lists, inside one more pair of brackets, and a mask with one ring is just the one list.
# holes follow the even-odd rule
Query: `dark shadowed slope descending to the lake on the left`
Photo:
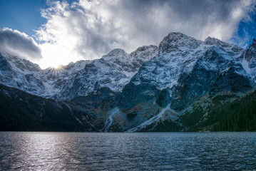
[[96, 131], [79, 115], [89, 118], [63, 102], [30, 95], [0, 85], [0, 130], [19, 131]]

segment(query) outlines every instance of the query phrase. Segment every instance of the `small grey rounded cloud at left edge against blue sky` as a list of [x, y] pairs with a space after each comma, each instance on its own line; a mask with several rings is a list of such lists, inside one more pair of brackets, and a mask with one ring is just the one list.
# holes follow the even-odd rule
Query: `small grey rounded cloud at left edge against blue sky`
[[42, 58], [41, 49], [33, 38], [11, 28], [0, 29], [0, 51], [31, 61]]

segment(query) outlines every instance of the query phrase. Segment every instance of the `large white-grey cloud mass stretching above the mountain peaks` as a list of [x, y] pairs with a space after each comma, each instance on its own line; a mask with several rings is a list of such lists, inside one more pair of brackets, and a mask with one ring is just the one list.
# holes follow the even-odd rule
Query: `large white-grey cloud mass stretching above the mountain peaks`
[[212, 36], [229, 41], [255, 1], [80, 0], [48, 4], [50, 7], [41, 11], [47, 23], [36, 31], [36, 38], [44, 57], [66, 64], [100, 58], [113, 48], [131, 52], [139, 46], [158, 45], [172, 31], [200, 40]]

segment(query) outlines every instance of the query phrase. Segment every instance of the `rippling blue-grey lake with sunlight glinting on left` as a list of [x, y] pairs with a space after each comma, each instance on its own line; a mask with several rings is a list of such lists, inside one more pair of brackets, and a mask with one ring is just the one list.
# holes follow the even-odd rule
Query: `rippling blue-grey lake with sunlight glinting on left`
[[0, 133], [1, 170], [256, 170], [256, 133]]

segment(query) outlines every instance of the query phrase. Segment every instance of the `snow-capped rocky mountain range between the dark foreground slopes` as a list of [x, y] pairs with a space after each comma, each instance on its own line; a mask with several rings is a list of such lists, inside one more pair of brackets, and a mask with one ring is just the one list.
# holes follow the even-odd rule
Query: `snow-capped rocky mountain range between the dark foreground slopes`
[[[76, 118], [87, 124], [81, 131], [211, 130], [222, 118], [213, 117], [213, 108], [255, 90], [255, 48], [255, 39], [245, 51], [217, 38], [169, 33], [159, 46], [132, 53], [114, 49], [100, 59], [45, 70], [1, 54], [0, 83], [30, 98], [68, 105], [72, 112], [57, 113], [79, 113]], [[39, 104], [27, 103], [24, 113], [34, 105]]]

